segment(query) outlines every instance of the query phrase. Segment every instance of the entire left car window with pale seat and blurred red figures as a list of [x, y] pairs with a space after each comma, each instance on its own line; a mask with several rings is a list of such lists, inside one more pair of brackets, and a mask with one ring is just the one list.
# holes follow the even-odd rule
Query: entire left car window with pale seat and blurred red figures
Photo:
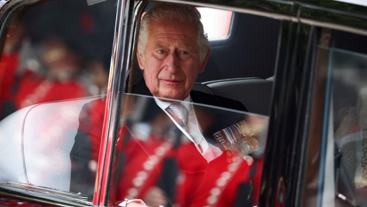
[[0, 49], [0, 188], [90, 204], [98, 152], [84, 154], [86, 163], [78, 153], [99, 151], [100, 142], [79, 136], [104, 113], [104, 101], [88, 103], [105, 99], [116, 8], [56, 0], [20, 3], [9, 16]]

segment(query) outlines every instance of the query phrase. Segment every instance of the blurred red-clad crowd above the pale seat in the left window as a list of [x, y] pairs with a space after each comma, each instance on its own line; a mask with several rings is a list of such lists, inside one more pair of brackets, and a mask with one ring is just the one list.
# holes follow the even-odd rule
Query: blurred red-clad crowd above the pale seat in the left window
[[51, 1], [15, 18], [0, 48], [0, 120], [32, 104], [105, 94], [115, 12], [116, 1]]

